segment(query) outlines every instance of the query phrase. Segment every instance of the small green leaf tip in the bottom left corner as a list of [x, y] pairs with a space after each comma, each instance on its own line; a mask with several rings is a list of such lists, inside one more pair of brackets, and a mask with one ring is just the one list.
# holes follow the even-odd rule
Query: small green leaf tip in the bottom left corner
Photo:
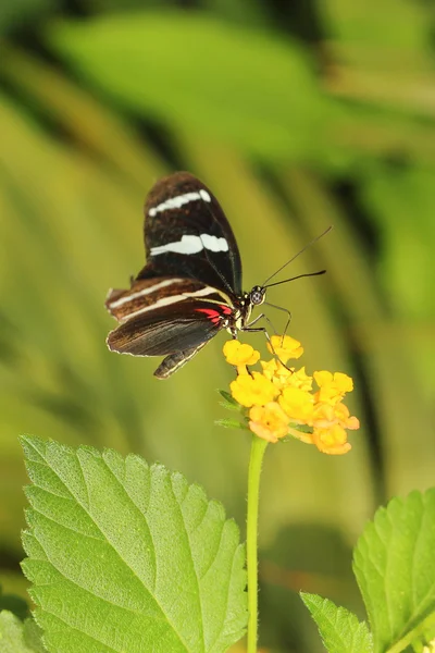
[[24, 623], [8, 611], [0, 613], [1, 653], [44, 653], [41, 633], [33, 619]]

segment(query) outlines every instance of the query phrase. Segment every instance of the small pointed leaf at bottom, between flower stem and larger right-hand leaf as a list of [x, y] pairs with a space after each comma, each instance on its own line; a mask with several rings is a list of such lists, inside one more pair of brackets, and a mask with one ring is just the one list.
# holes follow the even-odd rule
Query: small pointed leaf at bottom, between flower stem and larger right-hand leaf
[[330, 653], [370, 653], [372, 636], [365, 621], [328, 599], [301, 592], [300, 596], [318, 625], [322, 641]]

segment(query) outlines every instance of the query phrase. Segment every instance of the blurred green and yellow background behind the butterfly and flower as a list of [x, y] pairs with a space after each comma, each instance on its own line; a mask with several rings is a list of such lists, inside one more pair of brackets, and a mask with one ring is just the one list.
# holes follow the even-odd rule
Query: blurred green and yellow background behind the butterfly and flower
[[145, 196], [185, 169], [222, 202], [246, 289], [335, 227], [288, 274], [327, 275], [269, 299], [309, 370], [353, 375], [362, 428], [344, 457], [270, 447], [261, 503], [262, 645], [322, 651], [296, 591], [361, 611], [358, 533], [434, 484], [433, 4], [3, 0], [0, 33], [4, 591], [24, 593], [23, 432], [179, 469], [244, 532], [248, 438], [213, 426], [225, 338], [165, 382], [104, 344], [105, 293], [144, 263]]

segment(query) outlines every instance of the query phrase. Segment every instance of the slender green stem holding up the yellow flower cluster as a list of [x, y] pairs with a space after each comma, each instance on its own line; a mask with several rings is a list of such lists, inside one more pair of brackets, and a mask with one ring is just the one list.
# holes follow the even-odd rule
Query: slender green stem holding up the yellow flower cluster
[[258, 509], [261, 465], [268, 442], [252, 435], [248, 472], [246, 554], [248, 566], [248, 653], [257, 653], [258, 641]]

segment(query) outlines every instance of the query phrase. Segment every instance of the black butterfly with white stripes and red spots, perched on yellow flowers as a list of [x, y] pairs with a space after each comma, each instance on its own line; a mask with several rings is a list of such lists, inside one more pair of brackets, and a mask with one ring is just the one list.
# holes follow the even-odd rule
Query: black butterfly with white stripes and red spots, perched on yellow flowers
[[128, 289], [111, 289], [105, 299], [120, 323], [109, 333], [109, 349], [164, 356], [154, 375], [167, 379], [222, 330], [233, 337], [265, 331], [256, 326], [263, 313], [250, 318], [270, 286], [243, 292], [233, 231], [197, 177], [176, 172], [154, 184], [145, 205], [144, 235], [147, 264]]

